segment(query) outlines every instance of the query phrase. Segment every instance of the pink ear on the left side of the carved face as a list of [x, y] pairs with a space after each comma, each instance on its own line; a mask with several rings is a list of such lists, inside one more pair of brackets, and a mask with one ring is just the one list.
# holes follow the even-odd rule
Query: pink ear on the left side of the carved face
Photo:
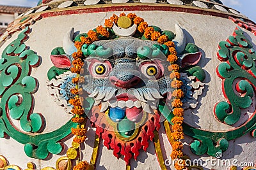
[[70, 68], [71, 62], [66, 55], [51, 55], [52, 63], [60, 69]]

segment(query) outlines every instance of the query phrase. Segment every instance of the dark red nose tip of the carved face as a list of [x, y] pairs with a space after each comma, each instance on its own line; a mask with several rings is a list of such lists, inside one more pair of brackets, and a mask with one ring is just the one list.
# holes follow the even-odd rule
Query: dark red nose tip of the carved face
[[111, 77], [109, 77], [109, 81], [117, 87], [129, 89], [131, 87], [138, 85], [138, 83], [140, 83], [141, 79], [138, 78], [137, 76], [134, 76], [133, 78], [129, 79], [128, 81], [122, 81], [122, 80], [116, 78], [116, 76], [111, 76]]

